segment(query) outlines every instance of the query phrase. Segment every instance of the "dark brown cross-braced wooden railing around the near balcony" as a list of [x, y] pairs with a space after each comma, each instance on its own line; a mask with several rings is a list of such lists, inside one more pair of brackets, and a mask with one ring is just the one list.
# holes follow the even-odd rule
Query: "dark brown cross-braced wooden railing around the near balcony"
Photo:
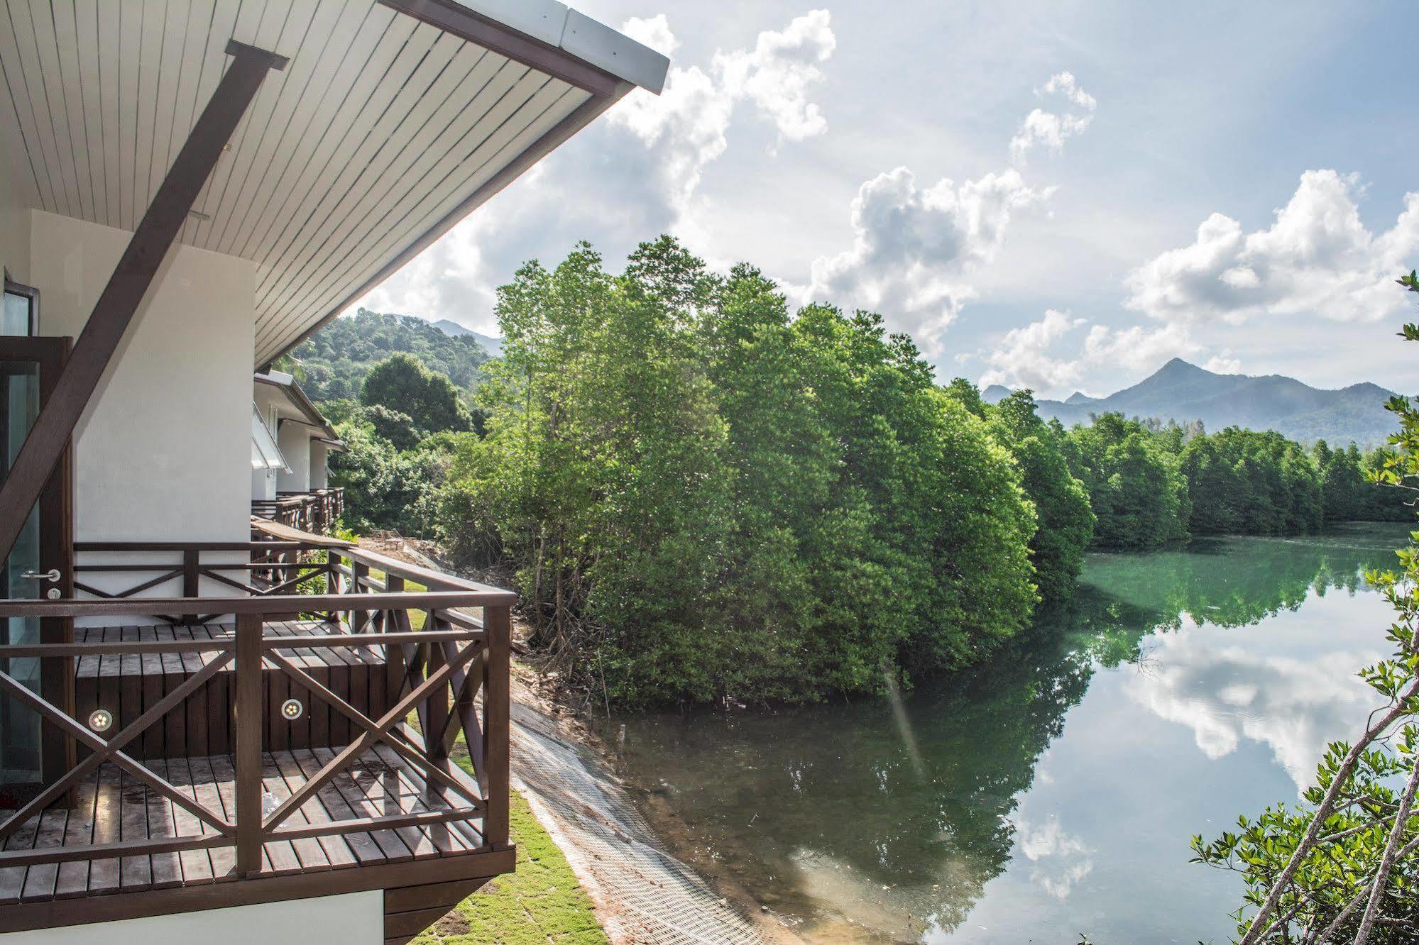
[[[114, 734], [95, 731], [91, 719], [79, 718], [74, 707], [43, 698], [0, 671], [0, 691], [30, 707], [45, 724], [57, 726], [88, 752], [38, 796], [0, 819], [0, 847], [27, 824], [34, 830], [47, 809], [64, 803], [105, 763], [116, 765], [129, 783], [140, 782], [150, 799], [172, 805], [175, 814], [177, 809], [184, 812], [187, 816], [173, 817], [169, 824], [180, 820], [190, 830], [126, 839], [125, 829], [122, 840], [99, 841], [95, 831], [77, 841], [65, 837], [48, 846], [24, 844], [27, 849], [11, 844], [0, 850], [0, 871], [75, 860], [230, 849], [234, 874], [257, 877], [270, 868], [264, 867], [264, 851], [270, 860], [271, 844], [454, 823], [465, 831], [461, 836], [475, 831], [477, 843], [464, 844], [461, 851], [508, 847], [508, 648], [509, 607], [515, 600], [511, 592], [359, 548], [328, 549], [298, 542], [109, 542], [81, 543], [77, 551], [81, 556], [109, 558], [112, 552], [142, 553], [145, 560], [81, 563], [81, 575], [108, 575], [109, 582], [114, 575], [128, 575], [125, 580], [131, 583], [101, 590], [77, 582], [88, 599], [0, 600], [0, 617], [62, 617], [92, 626], [170, 614], [162, 619], [176, 624], [224, 617], [230, 624], [221, 624], [226, 627], [221, 634], [201, 637], [169, 634], [170, 639], [0, 646], [0, 667], [17, 658], [61, 660], [75, 665], [85, 657], [203, 657], [189, 664], [200, 668], [186, 673], [162, 698], [143, 702], [140, 712], [115, 719]], [[230, 560], [231, 555], [243, 552], [247, 560]], [[228, 559], [206, 560], [221, 555]], [[152, 560], [146, 559], [149, 556]], [[201, 579], [238, 593], [197, 596]], [[179, 582], [182, 596], [140, 596]], [[409, 590], [413, 583], [426, 589]], [[299, 589], [316, 593], [298, 593]], [[267, 621], [291, 614], [318, 614], [325, 631], [292, 639], [267, 627]], [[297, 648], [307, 653], [333, 647], [366, 648], [383, 658], [387, 708], [377, 717], [362, 711], [294, 657]], [[201, 792], [173, 783], [166, 765], [140, 761], [135, 746], [152, 726], [160, 728], [165, 715], [220, 674], [227, 680], [234, 731], [234, 803], [204, 803]], [[311, 707], [326, 707], [332, 718], [338, 715], [348, 722], [345, 731], [350, 734], [348, 744], [331, 746], [332, 758], [275, 802], [263, 788], [263, 752], [271, 751], [263, 734], [270, 731], [271, 714], [285, 711], [285, 705], [272, 704], [264, 692], [264, 675], [268, 688], [270, 680], [277, 677], [287, 691], [304, 694]], [[460, 738], [468, 748], [471, 778], [450, 761]], [[396, 803], [377, 816], [308, 816], [312, 799], [329, 790], [332, 779], [376, 749], [397, 762], [402, 775], [426, 786], [421, 800], [406, 806]], [[270, 768], [270, 756], [265, 765]], [[217, 863], [216, 854], [211, 861]]]

